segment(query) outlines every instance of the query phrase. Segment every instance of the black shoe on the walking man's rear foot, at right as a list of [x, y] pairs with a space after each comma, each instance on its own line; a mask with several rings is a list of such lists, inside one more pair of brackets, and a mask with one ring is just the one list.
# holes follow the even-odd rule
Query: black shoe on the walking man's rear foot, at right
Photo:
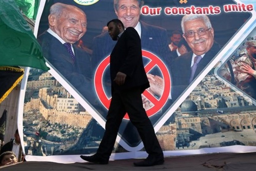
[[163, 156], [156, 157], [149, 155], [145, 160], [134, 162], [135, 166], [154, 166], [154, 165], [162, 165], [164, 163]]

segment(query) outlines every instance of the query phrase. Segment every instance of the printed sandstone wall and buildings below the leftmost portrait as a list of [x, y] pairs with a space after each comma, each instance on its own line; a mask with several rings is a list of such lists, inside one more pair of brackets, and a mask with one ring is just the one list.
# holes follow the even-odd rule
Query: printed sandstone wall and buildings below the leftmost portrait
[[38, 89], [38, 95], [25, 103], [24, 112], [38, 109], [47, 121], [83, 128], [91, 120], [91, 115], [48, 72], [39, 80], [28, 81], [27, 91]]

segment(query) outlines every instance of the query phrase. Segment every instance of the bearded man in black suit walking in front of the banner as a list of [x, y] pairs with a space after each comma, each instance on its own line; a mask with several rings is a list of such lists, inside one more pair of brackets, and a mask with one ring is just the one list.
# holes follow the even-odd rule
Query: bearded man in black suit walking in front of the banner
[[97, 153], [90, 157], [81, 156], [81, 158], [93, 163], [107, 164], [118, 129], [127, 112], [149, 154], [145, 161], [134, 163], [134, 165], [162, 164], [164, 162], [162, 149], [142, 105], [141, 93], [149, 87], [149, 81], [143, 66], [140, 37], [133, 27], [128, 27], [124, 31], [122, 22], [118, 19], [111, 20], [108, 28], [113, 40], [118, 41], [110, 54], [112, 99], [105, 133]]

